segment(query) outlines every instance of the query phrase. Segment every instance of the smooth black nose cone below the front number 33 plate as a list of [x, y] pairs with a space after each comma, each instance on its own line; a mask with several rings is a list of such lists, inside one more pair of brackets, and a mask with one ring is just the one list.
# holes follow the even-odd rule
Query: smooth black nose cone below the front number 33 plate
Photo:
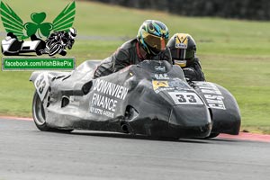
[[168, 128], [183, 138], [205, 138], [211, 133], [211, 115], [204, 105], [175, 105], [171, 111]]

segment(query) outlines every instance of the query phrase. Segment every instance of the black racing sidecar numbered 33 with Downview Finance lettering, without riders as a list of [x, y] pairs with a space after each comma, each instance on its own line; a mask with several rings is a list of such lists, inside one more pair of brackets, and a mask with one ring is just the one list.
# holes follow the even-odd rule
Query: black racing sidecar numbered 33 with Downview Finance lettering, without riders
[[238, 103], [210, 82], [189, 85], [181, 67], [144, 60], [94, 79], [100, 61], [72, 72], [33, 72], [33, 120], [40, 130], [106, 130], [157, 138], [238, 134]]

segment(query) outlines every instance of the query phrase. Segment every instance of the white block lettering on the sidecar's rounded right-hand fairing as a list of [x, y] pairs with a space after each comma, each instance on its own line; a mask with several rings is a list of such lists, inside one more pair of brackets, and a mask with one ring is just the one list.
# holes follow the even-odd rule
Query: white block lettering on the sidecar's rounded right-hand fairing
[[226, 110], [223, 102], [224, 97], [217, 85], [208, 82], [198, 82], [196, 85], [200, 88], [206, 103], [210, 108]]

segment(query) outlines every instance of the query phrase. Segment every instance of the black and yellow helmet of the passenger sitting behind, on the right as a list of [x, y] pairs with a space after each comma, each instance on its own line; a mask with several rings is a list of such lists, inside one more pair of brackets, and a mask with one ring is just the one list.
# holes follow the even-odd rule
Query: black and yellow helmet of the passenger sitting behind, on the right
[[187, 33], [175, 33], [166, 45], [175, 60], [175, 65], [186, 67], [193, 63], [196, 56], [196, 43]]

